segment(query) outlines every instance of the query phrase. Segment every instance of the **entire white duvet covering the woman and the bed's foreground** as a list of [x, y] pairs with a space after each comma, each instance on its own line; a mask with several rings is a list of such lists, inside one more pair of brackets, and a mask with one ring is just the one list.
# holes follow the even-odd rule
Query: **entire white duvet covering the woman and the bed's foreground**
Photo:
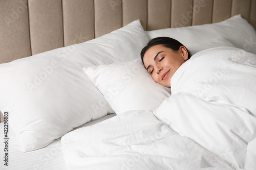
[[63, 136], [67, 167], [256, 169], [256, 55], [202, 51], [171, 86], [154, 112], [127, 111]]

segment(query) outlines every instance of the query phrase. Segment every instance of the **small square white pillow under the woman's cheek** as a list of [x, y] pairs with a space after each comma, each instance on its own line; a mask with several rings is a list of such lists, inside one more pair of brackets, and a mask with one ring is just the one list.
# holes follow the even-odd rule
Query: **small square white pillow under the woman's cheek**
[[154, 110], [170, 96], [170, 88], [156, 83], [141, 59], [84, 68], [84, 72], [116, 112]]

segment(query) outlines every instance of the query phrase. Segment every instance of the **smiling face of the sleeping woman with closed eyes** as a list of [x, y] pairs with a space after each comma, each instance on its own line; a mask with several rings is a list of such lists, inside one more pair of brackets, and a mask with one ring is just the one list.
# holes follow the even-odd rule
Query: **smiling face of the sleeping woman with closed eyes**
[[147, 72], [157, 83], [170, 87], [170, 79], [187, 57], [188, 53], [184, 46], [180, 46], [178, 51], [173, 51], [163, 45], [155, 45], [145, 52], [143, 61]]

